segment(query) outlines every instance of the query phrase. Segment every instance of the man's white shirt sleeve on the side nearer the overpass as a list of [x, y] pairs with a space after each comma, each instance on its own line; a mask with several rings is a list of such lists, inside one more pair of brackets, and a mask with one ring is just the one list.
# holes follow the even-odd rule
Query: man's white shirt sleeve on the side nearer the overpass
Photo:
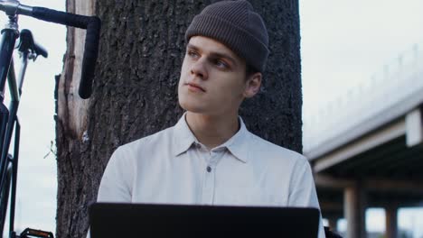
[[[304, 156], [300, 156], [296, 161], [293, 178], [290, 183], [288, 206], [315, 207], [320, 210], [319, 201], [315, 191], [315, 180], [313, 173]], [[324, 226], [322, 215], [319, 221], [319, 238], [324, 238]]]

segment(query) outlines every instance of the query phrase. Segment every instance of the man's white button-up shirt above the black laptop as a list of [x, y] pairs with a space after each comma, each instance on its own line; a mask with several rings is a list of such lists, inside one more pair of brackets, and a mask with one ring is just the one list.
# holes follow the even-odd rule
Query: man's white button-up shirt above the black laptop
[[[118, 147], [98, 201], [319, 208], [304, 156], [249, 133], [241, 119], [238, 133], [209, 151], [184, 118]], [[324, 237], [322, 222], [319, 230]]]

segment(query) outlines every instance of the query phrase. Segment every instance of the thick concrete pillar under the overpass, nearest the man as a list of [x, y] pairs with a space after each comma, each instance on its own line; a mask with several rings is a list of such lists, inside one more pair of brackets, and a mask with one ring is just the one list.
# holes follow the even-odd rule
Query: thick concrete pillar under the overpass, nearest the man
[[367, 237], [365, 226], [366, 196], [360, 183], [344, 190], [344, 215], [347, 220], [346, 238]]

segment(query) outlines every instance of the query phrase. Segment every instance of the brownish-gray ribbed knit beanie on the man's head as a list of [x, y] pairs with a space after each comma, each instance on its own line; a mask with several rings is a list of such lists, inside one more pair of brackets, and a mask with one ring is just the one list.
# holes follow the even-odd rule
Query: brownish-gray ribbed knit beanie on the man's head
[[202, 35], [221, 41], [247, 64], [263, 72], [268, 59], [268, 31], [248, 1], [221, 1], [206, 6], [185, 32], [188, 42]]

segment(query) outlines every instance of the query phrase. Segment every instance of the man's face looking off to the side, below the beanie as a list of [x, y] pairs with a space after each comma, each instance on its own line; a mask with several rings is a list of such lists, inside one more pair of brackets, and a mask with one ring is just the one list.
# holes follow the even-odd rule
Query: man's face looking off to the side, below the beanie
[[[238, 113], [242, 100], [258, 91], [261, 74], [255, 75], [256, 78], [254, 75], [246, 78], [245, 60], [221, 42], [193, 36], [183, 59], [179, 104], [186, 111], [198, 114]], [[256, 81], [253, 87], [252, 80]]]

